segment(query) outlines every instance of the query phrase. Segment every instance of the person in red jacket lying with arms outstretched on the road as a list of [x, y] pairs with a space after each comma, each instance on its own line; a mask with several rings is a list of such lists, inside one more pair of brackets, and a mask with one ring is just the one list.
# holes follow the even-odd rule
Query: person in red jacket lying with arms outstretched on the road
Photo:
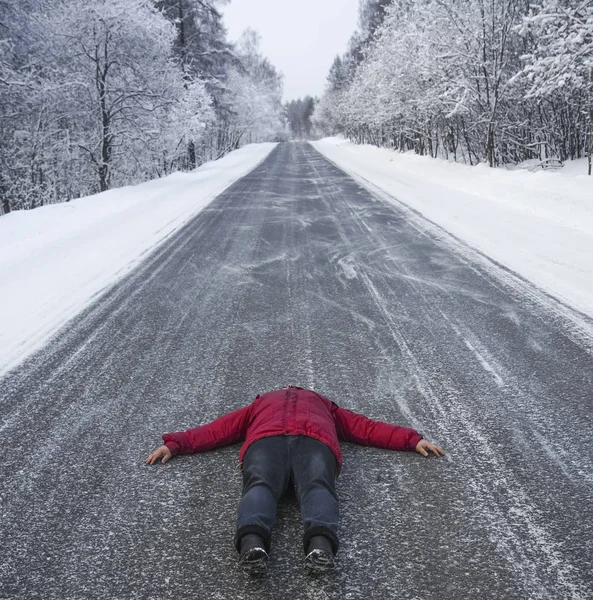
[[166, 463], [191, 454], [244, 441], [239, 454], [243, 494], [237, 511], [235, 547], [250, 574], [265, 572], [276, 505], [290, 484], [304, 525], [305, 568], [323, 573], [338, 551], [338, 498], [335, 479], [342, 466], [338, 440], [416, 451], [444, 451], [414, 429], [373, 421], [340, 408], [324, 396], [287, 386], [257, 396], [249, 406], [185, 432], [166, 433], [165, 444], [146, 463]]

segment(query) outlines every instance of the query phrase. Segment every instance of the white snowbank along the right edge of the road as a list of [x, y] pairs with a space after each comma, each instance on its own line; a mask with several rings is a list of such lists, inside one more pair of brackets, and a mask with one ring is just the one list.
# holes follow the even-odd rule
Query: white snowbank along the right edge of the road
[[362, 183], [593, 316], [593, 177], [586, 160], [530, 172], [471, 167], [340, 137], [313, 145]]

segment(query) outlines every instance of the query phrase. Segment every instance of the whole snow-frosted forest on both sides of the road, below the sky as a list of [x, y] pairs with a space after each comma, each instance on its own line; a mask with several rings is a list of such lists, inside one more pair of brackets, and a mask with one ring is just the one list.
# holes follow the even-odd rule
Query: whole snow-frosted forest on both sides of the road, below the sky
[[323, 96], [285, 104], [227, 3], [0, 0], [0, 214], [336, 134], [591, 174], [593, 0], [360, 0]]

